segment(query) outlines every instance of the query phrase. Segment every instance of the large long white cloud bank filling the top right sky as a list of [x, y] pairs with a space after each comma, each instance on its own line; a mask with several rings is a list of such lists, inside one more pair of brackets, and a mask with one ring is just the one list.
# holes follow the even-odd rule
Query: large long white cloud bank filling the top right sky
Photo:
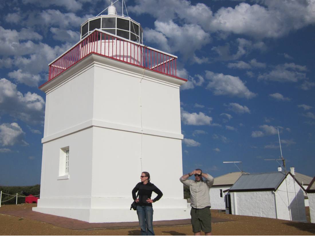
[[179, 19], [221, 35], [234, 33], [256, 38], [278, 38], [315, 22], [315, 3], [311, 0], [286, 4], [282, 1], [257, 0], [261, 5], [242, 2], [234, 8], [221, 7], [216, 12], [203, 3], [192, 5], [187, 0], [135, 2], [135, 6], [128, 8], [135, 14], [148, 13], [160, 21]]

